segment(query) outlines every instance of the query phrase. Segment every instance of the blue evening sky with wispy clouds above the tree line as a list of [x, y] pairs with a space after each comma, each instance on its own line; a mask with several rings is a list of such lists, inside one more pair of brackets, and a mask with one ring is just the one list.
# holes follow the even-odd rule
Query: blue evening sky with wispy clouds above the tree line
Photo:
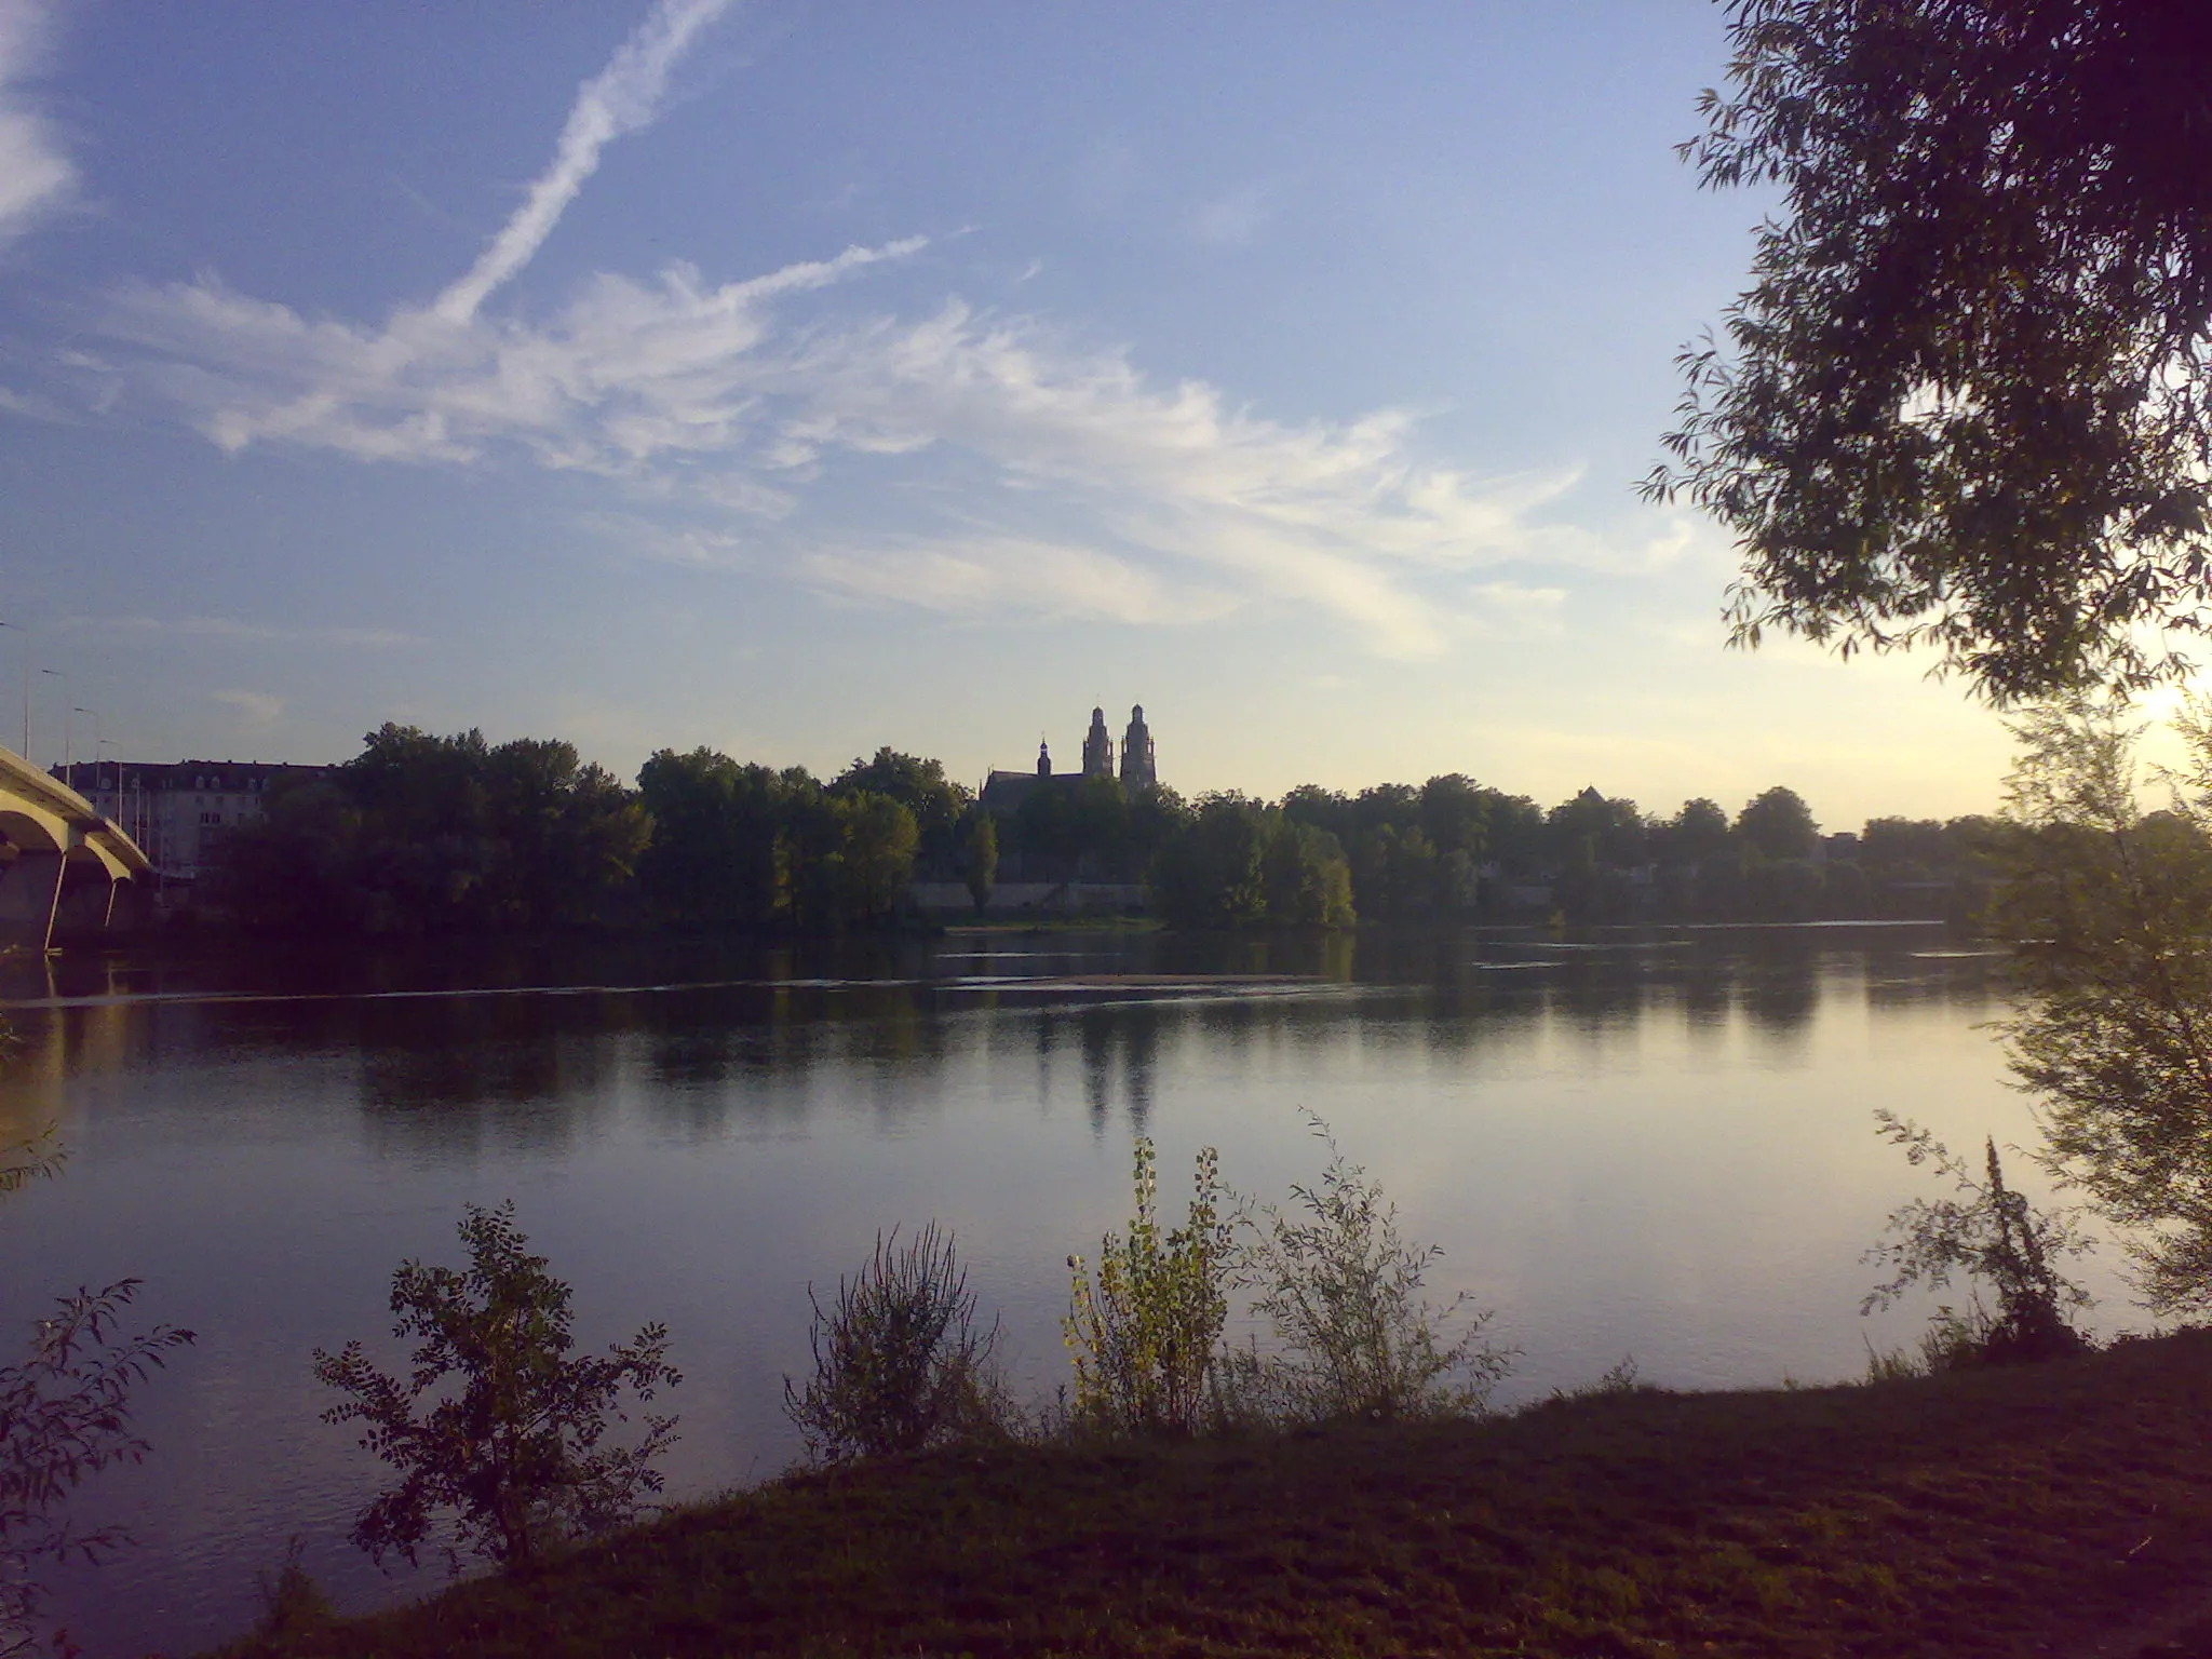
[[0, 0], [0, 741], [973, 781], [1144, 703], [1186, 794], [1993, 810], [1995, 714], [1730, 650], [1635, 493], [1772, 206], [1674, 157], [1723, 69], [1708, 0]]

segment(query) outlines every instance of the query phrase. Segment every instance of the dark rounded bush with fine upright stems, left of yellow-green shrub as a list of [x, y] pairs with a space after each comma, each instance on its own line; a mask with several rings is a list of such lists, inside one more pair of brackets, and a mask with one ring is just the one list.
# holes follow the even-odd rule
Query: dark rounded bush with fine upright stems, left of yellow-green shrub
[[931, 1221], [909, 1243], [876, 1234], [876, 1254], [838, 1279], [823, 1312], [814, 1287], [814, 1378], [783, 1378], [783, 1413], [818, 1462], [925, 1451], [1000, 1431], [998, 1321], [975, 1325], [975, 1292], [951, 1234]]

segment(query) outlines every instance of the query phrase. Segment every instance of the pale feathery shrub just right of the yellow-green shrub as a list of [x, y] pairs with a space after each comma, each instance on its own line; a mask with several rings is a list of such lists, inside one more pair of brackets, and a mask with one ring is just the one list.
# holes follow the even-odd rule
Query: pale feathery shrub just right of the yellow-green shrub
[[[1394, 1422], [1482, 1411], [1511, 1352], [1480, 1340], [1486, 1312], [1467, 1294], [1436, 1307], [1420, 1294], [1440, 1245], [1398, 1237], [1398, 1206], [1358, 1164], [1329, 1148], [1316, 1186], [1292, 1186], [1290, 1210], [1263, 1206], [1237, 1261], [1252, 1312], [1274, 1327], [1276, 1352], [1248, 1358], [1267, 1409], [1294, 1422]], [[1453, 1327], [1458, 1329], [1453, 1332]], [[1256, 1358], [1256, 1354], [1254, 1354]]]

